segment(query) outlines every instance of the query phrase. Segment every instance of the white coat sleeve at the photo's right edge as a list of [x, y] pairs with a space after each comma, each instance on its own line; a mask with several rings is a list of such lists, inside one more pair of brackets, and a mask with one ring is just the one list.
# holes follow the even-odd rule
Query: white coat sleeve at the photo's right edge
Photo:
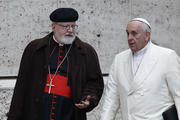
[[168, 59], [166, 79], [180, 118], [180, 58], [174, 51]]

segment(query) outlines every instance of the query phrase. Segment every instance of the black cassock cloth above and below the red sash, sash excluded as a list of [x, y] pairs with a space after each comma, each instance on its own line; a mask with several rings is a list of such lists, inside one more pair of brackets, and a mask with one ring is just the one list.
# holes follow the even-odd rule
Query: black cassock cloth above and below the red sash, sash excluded
[[[66, 52], [69, 49], [69, 45], [59, 46], [53, 37], [50, 39], [50, 56], [49, 66], [50, 74], [55, 74], [58, 61], [62, 61]], [[59, 60], [58, 60], [59, 59]], [[68, 61], [70, 60], [70, 53], [64, 60], [61, 67], [58, 69], [57, 75], [69, 76]], [[53, 75], [52, 75], [53, 76]], [[70, 82], [68, 79], [68, 86]], [[58, 87], [58, 86], [57, 86]], [[43, 95], [43, 120], [74, 120], [74, 104], [71, 98], [67, 98], [61, 95], [44, 93]]]

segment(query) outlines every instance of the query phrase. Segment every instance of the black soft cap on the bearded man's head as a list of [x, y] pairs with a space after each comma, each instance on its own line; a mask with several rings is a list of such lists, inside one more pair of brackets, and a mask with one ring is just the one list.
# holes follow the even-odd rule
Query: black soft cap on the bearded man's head
[[73, 8], [58, 8], [50, 14], [52, 22], [74, 22], [78, 19], [78, 12]]

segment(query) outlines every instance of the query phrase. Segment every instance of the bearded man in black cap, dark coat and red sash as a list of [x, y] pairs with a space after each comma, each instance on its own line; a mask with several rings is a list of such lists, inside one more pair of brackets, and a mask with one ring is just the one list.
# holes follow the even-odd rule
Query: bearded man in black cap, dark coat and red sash
[[78, 16], [56, 9], [52, 33], [26, 47], [8, 120], [86, 120], [98, 105], [103, 77], [96, 51], [76, 36]]

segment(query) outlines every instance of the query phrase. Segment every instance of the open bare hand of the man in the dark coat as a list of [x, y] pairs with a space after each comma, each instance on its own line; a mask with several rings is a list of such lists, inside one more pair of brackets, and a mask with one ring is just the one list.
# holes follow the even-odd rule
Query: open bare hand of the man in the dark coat
[[91, 96], [88, 95], [84, 101], [81, 101], [79, 104], [75, 104], [75, 106], [78, 107], [79, 109], [87, 108], [90, 104], [90, 102], [89, 102], [90, 98], [91, 98]]

